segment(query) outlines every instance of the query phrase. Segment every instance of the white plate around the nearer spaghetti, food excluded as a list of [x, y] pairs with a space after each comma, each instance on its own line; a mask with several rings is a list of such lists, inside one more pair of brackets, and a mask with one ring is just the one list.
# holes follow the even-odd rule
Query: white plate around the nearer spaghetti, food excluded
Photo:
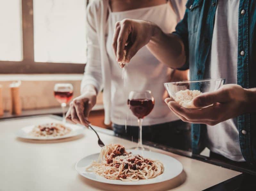
[[154, 184], [158, 182], [163, 182], [166, 180], [173, 179], [174, 177], [178, 176], [183, 170], [182, 164], [175, 158], [172, 158], [168, 155], [164, 155], [157, 152], [151, 152], [151, 151], [138, 151], [133, 149], [127, 150], [127, 151], [130, 151], [133, 154], [139, 154], [144, 158], [150, 158], [152, 160], [161, 161], [164, 165], [164, 172], [155, 178], [148, 179], [148, 180], [139, 180], [137, 182], [109, 180], [95, 173], [86, 172], [85, 170], [86, 166], [90, 165], [93, 160], [97, 160], [100, 153], [92, 154], [79, 160], [76, 164], [76, 170], [80, 175], [90, 180], [95, 180], [98, 182], [103, 182], [108, 184], [119, 184], [119, 185], [143, 185], [143, 184]]

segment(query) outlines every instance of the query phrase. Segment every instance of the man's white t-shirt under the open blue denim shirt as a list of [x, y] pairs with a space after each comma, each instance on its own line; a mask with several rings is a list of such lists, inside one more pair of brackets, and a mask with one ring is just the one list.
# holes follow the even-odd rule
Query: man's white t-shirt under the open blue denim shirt
[[[225, 84], [237, 83], [238, 52], [237, 0], [219, 0], [212, 36], [210, 66], [205, 78], [226, 78]], [[208, 148], [226, 158], [244, 161], [237, 129], [237, 119], [229, 119], [214, 126], [207, 126]]]

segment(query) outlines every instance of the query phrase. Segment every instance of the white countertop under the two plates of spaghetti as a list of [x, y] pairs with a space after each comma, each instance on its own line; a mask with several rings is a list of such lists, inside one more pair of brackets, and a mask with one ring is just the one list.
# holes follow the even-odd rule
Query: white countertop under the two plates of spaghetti
[[[55, 141], [34, 141], [16, 138], [18, 129], [31, 124], [58, 121], [50, 116], [30, 117], [0, 121], [0, 191], [43, 190], [203, 190], [230, 179], [240, 172], [179, 156], [166, 151], [179, 160], [184, 171], [172, 180], [152, 185], [119, 186], [99, 183], [80, 176], [76, 162], [100, 151], [97, 137], [92, 130], [84, 136]], [[99, 133], [105, 144], [120, 143], [126, 148], [136, 143]]]

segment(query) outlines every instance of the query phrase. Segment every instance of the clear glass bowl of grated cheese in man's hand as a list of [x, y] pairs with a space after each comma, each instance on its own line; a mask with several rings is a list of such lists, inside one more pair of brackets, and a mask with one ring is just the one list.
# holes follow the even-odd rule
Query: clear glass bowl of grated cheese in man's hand
[[198, 108], [194, 106], [192, 102], [193, 98], [205, 92], [214, 92], [224, 85], [224, 83], [225, 78], [217, 78], [169, 82], [164, 83], [164, 87], [169, 96], [179, 105], [192, 109]]

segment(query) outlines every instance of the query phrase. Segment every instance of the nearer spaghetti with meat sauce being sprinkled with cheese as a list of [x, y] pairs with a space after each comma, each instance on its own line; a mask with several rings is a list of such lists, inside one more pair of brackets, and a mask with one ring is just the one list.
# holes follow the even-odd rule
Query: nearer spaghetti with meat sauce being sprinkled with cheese
[[86, 171], [111, 180], [138, 181], [159, 176], [164, 166], [158, 160], [133, 155], [120, 144], [109, 144], [101, 149], [98, 161], [93, 161]]

